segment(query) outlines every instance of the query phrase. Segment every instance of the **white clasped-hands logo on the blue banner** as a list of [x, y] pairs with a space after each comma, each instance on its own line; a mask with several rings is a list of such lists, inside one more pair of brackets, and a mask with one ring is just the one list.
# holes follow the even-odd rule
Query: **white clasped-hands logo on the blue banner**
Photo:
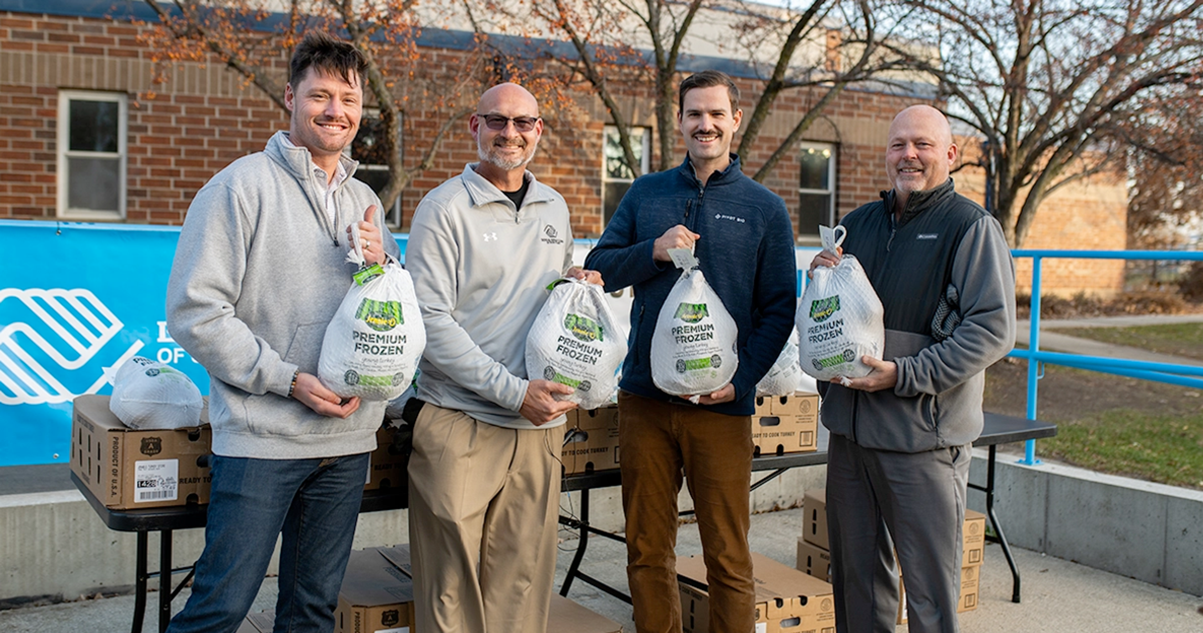
[[0, 404], [43, 405], [96, 393], [142, 341], [87, 289], [0, 288]]

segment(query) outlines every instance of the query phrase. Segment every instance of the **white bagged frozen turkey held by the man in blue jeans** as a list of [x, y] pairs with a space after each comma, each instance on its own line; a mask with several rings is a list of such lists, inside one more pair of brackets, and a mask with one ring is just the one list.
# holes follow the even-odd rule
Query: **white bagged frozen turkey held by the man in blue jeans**
[[[362, 264], [358, 229], [349, 262]], [[318, 378], [343, 398], [392, 400], [402, 394], [426, 350], [414, 280], [396, 262], [360, 268], [351, 288], [326, 326]]]

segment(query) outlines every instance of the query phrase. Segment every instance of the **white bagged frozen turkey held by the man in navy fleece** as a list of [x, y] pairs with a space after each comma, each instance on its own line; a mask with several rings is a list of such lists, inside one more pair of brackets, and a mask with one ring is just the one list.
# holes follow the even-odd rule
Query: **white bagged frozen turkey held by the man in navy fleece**
[[652, 333], [652, 382], [671, 395], [707, 395], [735, 376], [739, 328], [700, 268], [685, 268]]

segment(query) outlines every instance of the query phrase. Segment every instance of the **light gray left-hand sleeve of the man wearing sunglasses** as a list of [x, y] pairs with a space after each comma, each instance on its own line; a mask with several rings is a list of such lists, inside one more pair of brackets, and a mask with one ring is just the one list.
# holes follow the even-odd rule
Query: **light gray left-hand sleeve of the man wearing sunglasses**
[[462, 387], [516, 412], [522, 408], [527, 381], [486, 354], [451, 313], [457, 303], [456, 271], [463, 257], [452, 215], [422, 199], [409, 229], [405, 268], [414, 275], [414, 292], [426, 326], [422, 358]]

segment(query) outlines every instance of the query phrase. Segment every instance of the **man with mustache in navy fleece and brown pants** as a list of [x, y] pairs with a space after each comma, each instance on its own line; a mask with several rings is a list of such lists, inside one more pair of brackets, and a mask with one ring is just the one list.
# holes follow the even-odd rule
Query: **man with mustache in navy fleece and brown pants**
[[[754, 626], [748, 479], [755, 384], [789, 338], [795, 307], [793, 225], [784, 202], [743, 175], [730, 154], [739, 90], [716, 71], [681, 82], [677, 121], [688, 156], [630, 186], [585, 267], [606, 291], [633, 286], [630, 351], [618, 394], [627, 575], [640, 633], [681, 631], [677, 494], [694, 501], [710, 585], [710, 631]], [[739, 370], [699, 404], [652, 383], [652, 330], [681, 271], [670, 249], [693, 249], [739, 327]]]

